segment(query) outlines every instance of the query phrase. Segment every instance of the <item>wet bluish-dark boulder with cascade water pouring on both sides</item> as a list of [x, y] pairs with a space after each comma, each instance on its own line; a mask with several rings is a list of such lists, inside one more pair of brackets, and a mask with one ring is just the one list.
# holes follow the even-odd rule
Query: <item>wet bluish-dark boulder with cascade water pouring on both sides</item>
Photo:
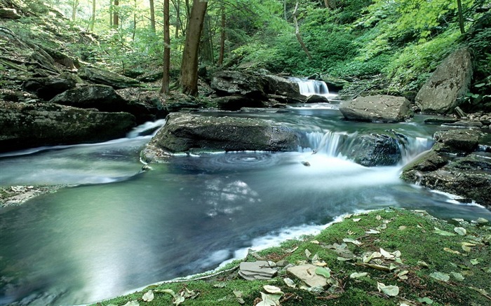
[[396, 165], [402, 158], [398, 141], [386, 134], [358, 135], [339, 151], [365, 167]]

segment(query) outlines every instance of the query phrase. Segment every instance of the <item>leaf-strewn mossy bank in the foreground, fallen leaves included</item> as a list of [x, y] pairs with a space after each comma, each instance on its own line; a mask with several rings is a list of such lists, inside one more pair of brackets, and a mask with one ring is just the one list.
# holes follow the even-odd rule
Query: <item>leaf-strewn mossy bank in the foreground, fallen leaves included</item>
[[[221, 273], [94, 305], [490, 305], [490, 241], [490, 223], [478, 216], [443, 221], [426, 211], [371, 211], [344, 216], [315, 237], [250, 251], [244, 261], [276, 263], [271, 279], [243, 279], [237, 260]], [[300, 265], [315, 266], [325, 286], [293, 276]]]

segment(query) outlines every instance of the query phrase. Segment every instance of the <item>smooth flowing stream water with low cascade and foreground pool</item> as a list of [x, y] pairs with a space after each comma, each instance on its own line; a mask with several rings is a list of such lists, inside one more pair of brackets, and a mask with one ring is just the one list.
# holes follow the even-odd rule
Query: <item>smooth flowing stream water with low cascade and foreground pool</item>
[[[405, 162], [431, 147], [438, 127], [422, 118], [349, 123], [335, 106], [288, 110], [208, 116], [288, 125], [309, 139], [292, 152], [175, 155], [142, 172], [139, 153], [151, 136], [135, 132], [103, 144], [2, 155], [2, 186], [74, 186], [0, 209], [0, 304], [96, 302], [318, 232], [354, 211], [404, 207], [442, 218], [491, 218], [483, 207], [398, 179]], [[408, 138], [400, 165], [362, 167], [339, 151], [357, 133], [392, 130]]]

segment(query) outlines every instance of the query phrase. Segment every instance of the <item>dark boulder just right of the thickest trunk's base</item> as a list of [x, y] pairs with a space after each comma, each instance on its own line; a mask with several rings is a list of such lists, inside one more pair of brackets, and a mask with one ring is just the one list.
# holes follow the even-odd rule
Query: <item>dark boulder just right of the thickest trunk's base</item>
[[243, 95], [252, 99], [264, 99], [264, 81], [258, 76], [239, 71], [219, 71], [213, 74], [211, 88], [218, 95]]

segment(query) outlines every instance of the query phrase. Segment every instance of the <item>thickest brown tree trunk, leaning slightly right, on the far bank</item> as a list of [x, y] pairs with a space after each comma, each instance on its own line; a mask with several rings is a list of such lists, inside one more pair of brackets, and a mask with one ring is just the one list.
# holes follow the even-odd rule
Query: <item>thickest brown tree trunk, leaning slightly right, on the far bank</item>
[[205, 20], [208, 1], [193, 0], [186, 30], [186, 41], [182, 52], [180, 85], [182, 93], [196, 96], [198, 94], [198, 55], [203, 21]]

